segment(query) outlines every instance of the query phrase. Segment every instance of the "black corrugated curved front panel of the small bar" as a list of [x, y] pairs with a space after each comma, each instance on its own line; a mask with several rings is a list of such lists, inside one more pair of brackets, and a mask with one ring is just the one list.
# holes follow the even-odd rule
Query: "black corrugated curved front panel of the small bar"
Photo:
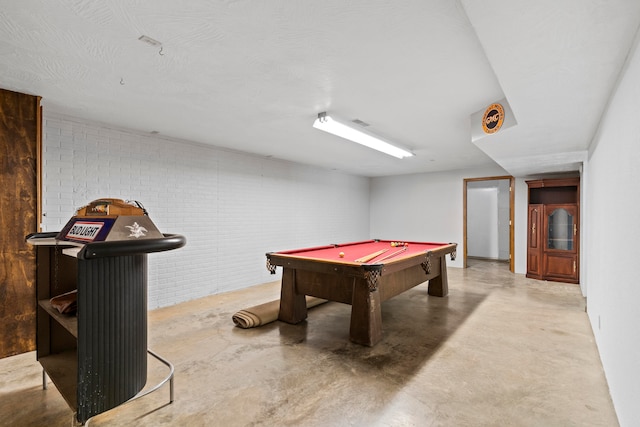
[[84, 423], [147, 381], [146, 254], [78, 260], [78, 328], [77, 419]]

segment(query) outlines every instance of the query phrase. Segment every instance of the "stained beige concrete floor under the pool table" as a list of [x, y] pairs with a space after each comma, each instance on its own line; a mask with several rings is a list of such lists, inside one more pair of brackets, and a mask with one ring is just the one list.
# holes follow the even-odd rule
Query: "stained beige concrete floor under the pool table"
[[[297, 326], [233, 326], [235, 311], [276, 299], [278, 283], [151, 311], [149, 347], [176, 367], [174, 403], [165, 385], [89, 424], [618, 425], [577, 285], [470, 260], [449, 268], [449, 287], [385, 302], [373, 348], [349, 342], [350, 306], [338, 303]], [[148, 384], [166, 371], [150, 359]], [[0, 425], [71, 420], [55, 387], [42, 389], [35, 353], [0, 360]]]

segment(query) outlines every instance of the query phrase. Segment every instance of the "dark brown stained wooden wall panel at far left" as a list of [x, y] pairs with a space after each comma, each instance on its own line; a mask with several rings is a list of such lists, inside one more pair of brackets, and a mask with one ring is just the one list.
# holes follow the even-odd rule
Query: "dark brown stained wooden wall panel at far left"
[[39, 104], [0, 89], [0, 357], [35, 349]]

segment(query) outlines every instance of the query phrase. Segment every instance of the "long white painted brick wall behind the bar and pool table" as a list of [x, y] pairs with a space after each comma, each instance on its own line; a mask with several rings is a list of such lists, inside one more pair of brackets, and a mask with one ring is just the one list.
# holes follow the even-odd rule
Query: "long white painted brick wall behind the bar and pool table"
[[265, 253], [369, 238], [369, 179], [44, 113], [43, 231], [140, 201], [184, 248], [149, 255], [149, 308], [276, 280]]

